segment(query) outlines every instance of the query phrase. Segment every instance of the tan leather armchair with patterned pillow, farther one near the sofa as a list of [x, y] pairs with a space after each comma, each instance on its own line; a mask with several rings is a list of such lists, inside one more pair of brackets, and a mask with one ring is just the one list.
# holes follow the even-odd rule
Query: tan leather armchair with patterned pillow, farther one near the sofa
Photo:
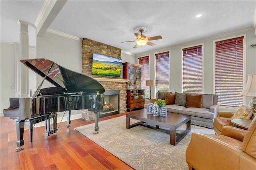
[[218, 112], [218, 115], [214, 118], [213, 121], [213, 130], [215, 134], [221, 134], [222, 128], [224, 126], [234, 126], [233, 123], [231, 123], [231, 117], [235, 113], [232, 112]]

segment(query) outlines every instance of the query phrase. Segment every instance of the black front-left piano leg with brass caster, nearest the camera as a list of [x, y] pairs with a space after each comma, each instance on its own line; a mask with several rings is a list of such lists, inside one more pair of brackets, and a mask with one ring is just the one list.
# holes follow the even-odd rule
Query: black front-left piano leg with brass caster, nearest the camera
[[25, 120], [14, 120], [15, 121], [15, 125], [16, 125], [16, 132], [17, 132], [17, 149], [14, 150], [14, 152], [19, 152], [21, 150], [23, 150], [24, 148], [21, 148], [20, 146], [24, 145], [24, 140], [23, 140], [23, 134], [24, 134], [24, 122]]

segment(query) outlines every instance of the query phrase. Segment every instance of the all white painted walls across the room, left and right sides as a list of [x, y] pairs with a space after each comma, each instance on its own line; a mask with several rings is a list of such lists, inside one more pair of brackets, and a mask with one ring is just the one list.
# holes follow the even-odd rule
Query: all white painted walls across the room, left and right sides
[[[170, 51], [170, 91], [181, 91], [181, 49], [187, 46], [202, 43], [204, 46], [204, 77], [203, 77], [203, 93], [214, 93], [214, 41], [223, 38], [230, 38], [234, 36], [245, 35], [245, 77], [244, 84], [247, 81], [248, 74], [256, 73], [256, 48], [250, 47], [251, 44], [256, 43], [254, 30], [241, 30], [239, 32], [229, 33], [211, 38], [205, 38], [194, 42], [179, 44], [164, 49], [148, 51], [140, 55], [130, 55], [122, 51], [122, 62], [138, 63], [138, 57], [149, 55], [150, 56], [150, 79], [154, 79], [154, 53]], [[29, 58], [47, 58], [65, 68], [72, 71], [82, 72], [82, 40], [76, 38], [65, 37], [50, 32], [46, 32], [43, 37], [37, 37], [37, 47], [30, 47]], [[3, 109], [9, 107], [9, 98], [14, 97], [15, 89], [15, 44], [1, 42], [0, 51], [0, 116], [3, 116]], [[34, 74], [34, 75], [33, 75]], [[37, 76], [34, 72], [29, 73], [30, 84], [29, 88], [35, 91], [36, 87], [42, 81], [42, 78]], [[36, 80], [35, 80], [36, 79]], [[50, 87], [50, 83], [46, 83], [43, 87]], [[152, 88], [152, 98], [154, 98], [154, 88]], [[244, 101], [248, 104], [251, 97], [246, 97]], [[230, 108], [222, 108], [221, 111], [232, 111]], [[72, 115], [80, 114], [80, 111], [72, 111]], [[62, 115], [62, 114], [60, 114]], [[59, 116], [60, 116], [59, 115]]]

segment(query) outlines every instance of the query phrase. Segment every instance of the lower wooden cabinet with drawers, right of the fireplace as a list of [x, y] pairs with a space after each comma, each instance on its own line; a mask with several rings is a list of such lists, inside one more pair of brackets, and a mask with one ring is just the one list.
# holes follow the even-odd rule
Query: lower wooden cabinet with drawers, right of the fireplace
[[144, 107], [144, 95], [145, 95], [144, 89], [127, 90], [127, 101], [126, 101], [127, 110], [131, 112], [132, 109]]

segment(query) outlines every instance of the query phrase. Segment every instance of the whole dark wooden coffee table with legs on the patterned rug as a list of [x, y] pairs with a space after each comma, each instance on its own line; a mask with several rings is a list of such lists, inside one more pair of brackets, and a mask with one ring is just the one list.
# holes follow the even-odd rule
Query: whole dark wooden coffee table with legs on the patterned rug
[[[130, 118], [139, 120], [140, 122], [130, 125]], [[145, 123], [149, 123], [156, 126], [154, 127]], [[176, 133], [176, 129], [184, 125], [185, 123], [187, 125], [186, 130], [184, 130], [180, 134]], [[132, 111], [131, 113], [126, 113], [126, 128], [129, 129], [138, 125], [169, 133], [170, 144], [176, 145], [190, 132], [191, 117], [171, 112], [167, 112], [167, 117], [155, 117], [153, 115], [147, 114], [147, 109], [140, 109]], [[160, 126], [170, 128], [170, 130], [159, 128]]]

